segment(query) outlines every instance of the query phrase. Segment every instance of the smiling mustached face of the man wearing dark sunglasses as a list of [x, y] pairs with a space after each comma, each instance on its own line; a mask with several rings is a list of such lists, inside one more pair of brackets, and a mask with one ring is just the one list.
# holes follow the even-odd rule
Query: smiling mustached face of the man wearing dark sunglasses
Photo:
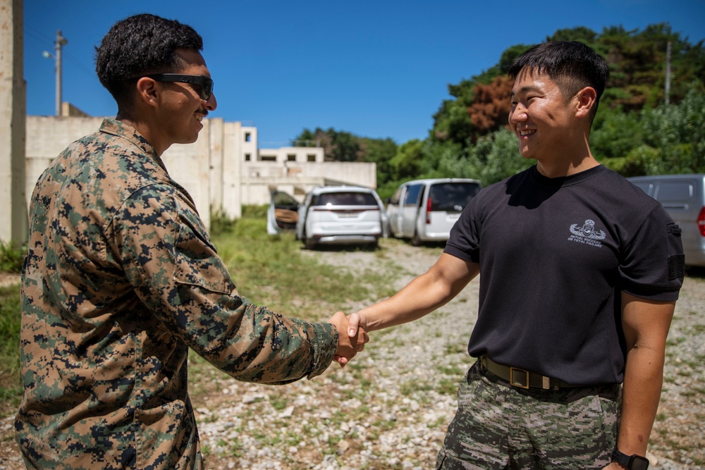
[[[211, 76], [198, 51], [178, 49], [176, 54], [185, 66], [175, 73]], [[200, 97], [199, 85], [183, 82], [159, 82], [159, 86], [162, 88], [160, 127], [164, 144], [169, 147], [171, 144], [196, 142], [198, 132], [203, 128], [201, 121], [218, 106], [215, 95], [204, 101]]]

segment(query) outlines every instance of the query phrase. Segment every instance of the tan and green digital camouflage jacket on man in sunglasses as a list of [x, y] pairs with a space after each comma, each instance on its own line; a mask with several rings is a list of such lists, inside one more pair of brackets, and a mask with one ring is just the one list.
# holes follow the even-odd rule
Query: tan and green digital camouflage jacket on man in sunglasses
[[238, 295], [192, 199], [137, 131], [104, 120], [30, 204], [16, 440], [30, 468], [202, 468], [191, 348], [242, 381], [322, 373], [329, 323]]

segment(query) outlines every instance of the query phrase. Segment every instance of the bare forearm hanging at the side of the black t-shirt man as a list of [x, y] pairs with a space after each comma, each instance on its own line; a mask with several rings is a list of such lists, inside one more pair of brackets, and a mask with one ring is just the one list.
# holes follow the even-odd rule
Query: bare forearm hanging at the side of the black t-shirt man
[[623, 385], [619, 450], [646, 455], [663, 383], [663, 349], [633, 347], [627, 354]]

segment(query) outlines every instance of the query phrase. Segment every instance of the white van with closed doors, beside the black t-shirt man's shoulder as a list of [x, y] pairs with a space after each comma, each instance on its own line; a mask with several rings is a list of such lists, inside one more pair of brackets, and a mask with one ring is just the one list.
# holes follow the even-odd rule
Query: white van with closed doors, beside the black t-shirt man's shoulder
[[414, 246], [448, 241], [460, 212], [481, 189], [478, 180], [468, 178], [407, 181], [388, 199], [389, 233], [411, 239]]

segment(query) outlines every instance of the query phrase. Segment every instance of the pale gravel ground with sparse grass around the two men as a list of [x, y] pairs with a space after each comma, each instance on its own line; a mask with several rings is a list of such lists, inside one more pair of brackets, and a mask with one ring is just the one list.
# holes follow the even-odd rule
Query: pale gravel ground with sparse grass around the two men
[[[362, 272], [390, 273], [398, 289], [438, 259], [440, 247], [384, 240], [376, 252], [305, 252]], [[364, 280], [360, 280], [364, 282]], [[194, 400], [210, 469], [431, 469], [455, 414], [455, 390], [471, 364], [465, 347], [477, 280], [439, 311], [372, 333], [348, 367], [312, 381], [266, 387], [209, 368]], [[367, 301], [341, 305], [348, 311]], [[655, 470], [705, 468], [705, 280], [689, 276], [670, 331], [661, 406], [651, 434]], [[0, 470], [23, 468], [0, 422]]]

